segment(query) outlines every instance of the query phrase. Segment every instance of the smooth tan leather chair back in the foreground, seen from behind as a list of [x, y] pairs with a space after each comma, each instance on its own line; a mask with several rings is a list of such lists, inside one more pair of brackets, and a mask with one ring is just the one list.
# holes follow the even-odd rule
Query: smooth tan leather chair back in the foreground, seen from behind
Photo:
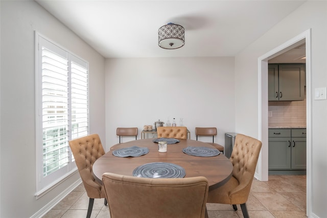
[[152, 179], [104, 173], [103, 186], [111, 218], [203, 218], [205, 177]]

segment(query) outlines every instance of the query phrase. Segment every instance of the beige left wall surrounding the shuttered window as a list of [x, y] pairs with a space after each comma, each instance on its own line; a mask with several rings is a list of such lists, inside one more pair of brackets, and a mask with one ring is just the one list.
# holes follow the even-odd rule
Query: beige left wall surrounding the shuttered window
[[[90, 132], [105, 143], [104, 58], [34, 1], [1, 5], [1, 217], [31, 217], [51, 206], [78, 173], [36, 200], [34, 31], [89, 62]], [[39, 215], [36, 215], [39, 216]]]

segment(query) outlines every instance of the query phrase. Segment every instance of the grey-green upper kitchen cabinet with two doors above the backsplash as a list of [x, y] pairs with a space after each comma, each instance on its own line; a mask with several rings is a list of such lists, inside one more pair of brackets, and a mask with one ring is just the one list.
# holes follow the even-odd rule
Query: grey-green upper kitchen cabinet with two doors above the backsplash
[[268, 101], [305, 99], [305, 64], [268, 64]]

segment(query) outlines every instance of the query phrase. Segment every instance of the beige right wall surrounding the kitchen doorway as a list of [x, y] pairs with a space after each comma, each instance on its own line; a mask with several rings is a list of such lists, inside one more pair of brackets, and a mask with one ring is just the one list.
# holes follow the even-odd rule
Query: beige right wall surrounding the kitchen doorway
[[[314, 88], [327, 86], [327, 2], [308, 1], [297, 10], [277, 23], [266, 34], [250, 44], [235, 58], [236, 71], [236, 131], [261, 138], [259, 135], [258, 104], [258, 58], [272, 51], [279, 45], [311, 29], [311, 92]], [[307, 71], [308, 72], [308, 71]], [[307, 87], [308, 89], [308, 87]], [[307, 92], [309, 93], [309, 92]], [[312, 135], [310, 159], [307, 168], [312, 192], [309, 195], [309, 215], [311, 217], [325, 217], [327, 208], [327, 101], [308, 102], [311, 110]], [[245, 109], [244, 109], [245, 108]], [[244, 115], [246, 114], [246, 116]], [[307, 123], [307, 126], [309, 124]], [[310, 140], [310, 139], [309, 139]], [[264, 141], [262, 151], [267, 151], [267, 141]], [[266, 156], [265, 156], [266, 157]]]

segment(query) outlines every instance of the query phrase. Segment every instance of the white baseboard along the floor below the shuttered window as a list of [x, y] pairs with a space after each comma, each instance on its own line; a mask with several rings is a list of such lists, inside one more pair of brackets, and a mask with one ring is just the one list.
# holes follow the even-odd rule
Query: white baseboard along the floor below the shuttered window
[[67, 187], [64, 191], [62, 191], [57, 197], [55, 197], [52, 201], [42, 207], [39, 211], [34, 213], [31, 218], [42, 217], [46, 213], [48, 213], [54, 206], [56, 206], [62, 199], [64, 199], [69, 193], [74, 191], [74, 189], [82, 183], [82, 179], [76, 180], [72, 185]]

